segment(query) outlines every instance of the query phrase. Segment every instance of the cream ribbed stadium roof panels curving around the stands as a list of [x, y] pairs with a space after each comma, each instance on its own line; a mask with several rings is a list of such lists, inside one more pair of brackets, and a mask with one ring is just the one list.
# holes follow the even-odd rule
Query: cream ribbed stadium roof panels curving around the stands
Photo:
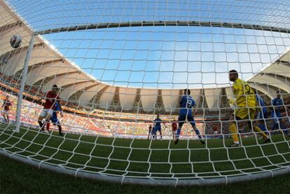
[[[4, 1], [0, 1], [0, 13], [0, 56], [7, 58], [5, 64], [1, 65], [1, 73], [15, 76], [23, 68], [29, 39], [33, 31]], [[289, 26], [286, 25], [286, 27]], [[22, 45], [17, 50], [10, 46], [10, 39], [14, 34], [22, 36]], [[50, 90], [52, 85], [57, 84], [64, 88], [60, 94], [62, 99], [69, 99], [72, 95], [80, 92], [78, 101], [81, 105], [88, 104], [92, 99], [97, 98], [99, 107], [102, 109], [107, 109], [114, 97], [118, 95], [123, 109], [130, 110], [137, 100], [137, 95], [139, 95], [144, 111], [153, 111], [158, 98], [161, 98], [165, 110], [170, 112], [172, 108], [178, 106], [181, 95], [181, 90], [127, 88], [102, 83], [67, 60], [41, 36], [36, 36], [36, 41], [34, 41], [29, 67], [33, 67], [33, 69], [29, 69], [27, 85], [34, 85], [47, 79], [48, 81], [43, 85], [44, 91]], [[277, 89], [290, 93], [289, 78], [290, 50], [286, 50], [270, 66], [262, 69], [259, 74], [249, 78], [248, 81], [251, 87], [272, 98]], [[199, 102], [201, 96], [205, 95], [209, 109], [215, 109], [221, 103], [223, 90], [223, 88], [193, 89], [192, 96]], [[230, 97], [229, 88], [226, 88], [225, 91], [226, 95]]]

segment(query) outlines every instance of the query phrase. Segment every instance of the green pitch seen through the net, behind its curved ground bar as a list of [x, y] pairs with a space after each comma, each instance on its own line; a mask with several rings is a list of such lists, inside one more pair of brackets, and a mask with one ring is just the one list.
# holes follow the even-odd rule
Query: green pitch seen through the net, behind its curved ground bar
[[39, 134], [24, 127], [13, 133], [13, 128], [0, 125], [0, 148], [62, 167], [86, 166], [87, 171], [105, 174], [195, 179], [275, 169], [290, 161], [289, 138], [282, 135], [272, 136], [275, 144], [257, 144], [256, 138], [250, 137], [243, 139], [243, 147], [226, 148], [231, 139], [208, 140], [206, 146], [188, 140], [174, 145], [172, 141], [76, 134], [63, 138], [55, 132]]

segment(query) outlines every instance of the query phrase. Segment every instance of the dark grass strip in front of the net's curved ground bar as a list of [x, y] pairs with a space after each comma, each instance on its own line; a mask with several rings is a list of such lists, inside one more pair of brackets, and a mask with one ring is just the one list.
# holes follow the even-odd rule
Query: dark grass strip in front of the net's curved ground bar
[[229, 186], [148, 187], [75, 179], [0, 156], [0, 193], [289, 193], [290, 175]]

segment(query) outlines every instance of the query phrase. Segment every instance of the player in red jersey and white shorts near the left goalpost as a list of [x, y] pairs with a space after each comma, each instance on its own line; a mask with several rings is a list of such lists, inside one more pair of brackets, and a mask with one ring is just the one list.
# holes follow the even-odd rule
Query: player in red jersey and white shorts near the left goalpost
[[[60, 103], [60, 98], [57, 95], [57, 85], [53, 85], [51, 91], [46, 93], [46, 102], [43, 106], [43, 110], [39, 115], [39, 126], [41, 127], [41, 132], [45, 132], [44, 127], [46, 124], [46, 130], [49, 130], [50, 127], [50, 118], [53, 116], [53, 107], [55, 107], [55, 102]], [[42, 120], [45, 119], [45, 123]]]

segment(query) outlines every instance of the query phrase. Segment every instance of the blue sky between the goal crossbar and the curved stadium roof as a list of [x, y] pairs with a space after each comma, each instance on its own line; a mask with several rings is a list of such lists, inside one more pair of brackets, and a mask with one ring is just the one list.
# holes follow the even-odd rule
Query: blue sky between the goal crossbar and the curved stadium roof
[[230, 69], [247, 79], [290, 46], [286, 34], [219, 27], [112, 28], [44, 37], [101, 81], [150, 88], [223, 86]]

